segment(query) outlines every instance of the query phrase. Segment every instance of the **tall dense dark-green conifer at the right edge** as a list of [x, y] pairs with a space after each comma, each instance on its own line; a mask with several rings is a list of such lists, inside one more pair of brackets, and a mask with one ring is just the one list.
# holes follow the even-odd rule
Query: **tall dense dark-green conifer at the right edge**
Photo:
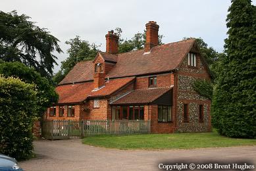
[[232, 0], [225, 53], [213, 93], [213, 125], [228, 137], [256, 138], [256, 11]]

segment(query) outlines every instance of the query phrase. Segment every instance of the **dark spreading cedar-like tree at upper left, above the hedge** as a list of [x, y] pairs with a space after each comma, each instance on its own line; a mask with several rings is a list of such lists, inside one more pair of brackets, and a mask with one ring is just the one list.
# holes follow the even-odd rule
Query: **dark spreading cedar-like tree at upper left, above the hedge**
[[16, 11], [0, 11], [0, 59], [22, 62], [33, 66], [42, 76], [51, 76], [53, 64], [57, 64], [53, 51], [62, 52], [59, 40], [29, 19]]

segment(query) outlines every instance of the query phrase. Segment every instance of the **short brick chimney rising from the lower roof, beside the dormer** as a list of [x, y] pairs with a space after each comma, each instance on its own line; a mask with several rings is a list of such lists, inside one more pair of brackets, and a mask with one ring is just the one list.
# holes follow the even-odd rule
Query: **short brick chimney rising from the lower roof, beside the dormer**
[[[97, 68], [97, 70], [96, 70]], [[99, 89], [99, 87], [102, 87], [105, 84], [105, 72], [101, 72], [101, 64], [95, 64], [95, 71], [93, 76], [93, 86], [94, 91]]]

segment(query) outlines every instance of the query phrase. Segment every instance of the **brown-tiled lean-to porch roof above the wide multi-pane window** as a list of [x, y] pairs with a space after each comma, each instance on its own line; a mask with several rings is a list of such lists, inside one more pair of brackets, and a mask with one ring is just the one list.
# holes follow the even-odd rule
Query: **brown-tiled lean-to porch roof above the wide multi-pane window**
[[125, 105], [125, 104], [145, 104], [155, 101], [158, 97], [165, 94], [172, 87], [154, 88], [154, 89], [136, 89], [120, 99], [113, 101], [111, 105]]

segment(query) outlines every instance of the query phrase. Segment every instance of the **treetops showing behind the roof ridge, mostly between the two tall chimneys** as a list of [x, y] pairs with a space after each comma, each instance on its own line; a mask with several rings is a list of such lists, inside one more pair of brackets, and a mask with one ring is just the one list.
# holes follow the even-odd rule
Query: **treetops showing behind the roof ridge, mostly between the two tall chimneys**
[[[136, 51], [138, 49], [143, 49], [145, 45], [145, 39], [146, 39], [146, 31], [144, 30], [143, 34], [138, 32], [137, 34], [132, 37], [132, 39], [123, 39], [122, 38], [122, 29], [116, 28], [115, 29], [118, 36], [119, 36], [119, 42], [118, 42], [118, 53], [125, 53], [129, 51]], [[158, 36], [159, 45], [162, 43], [163, 35]]]

